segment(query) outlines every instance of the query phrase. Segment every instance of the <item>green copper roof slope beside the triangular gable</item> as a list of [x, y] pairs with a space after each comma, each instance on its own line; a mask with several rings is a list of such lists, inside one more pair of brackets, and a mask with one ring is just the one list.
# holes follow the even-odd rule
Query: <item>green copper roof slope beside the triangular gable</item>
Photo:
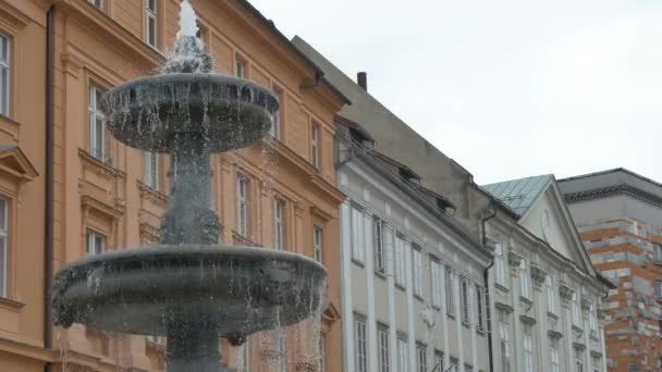
[[545, 174], [483, 185], [481, 188], [523, 216], [552, 179], [554, 179], [553, 175]]

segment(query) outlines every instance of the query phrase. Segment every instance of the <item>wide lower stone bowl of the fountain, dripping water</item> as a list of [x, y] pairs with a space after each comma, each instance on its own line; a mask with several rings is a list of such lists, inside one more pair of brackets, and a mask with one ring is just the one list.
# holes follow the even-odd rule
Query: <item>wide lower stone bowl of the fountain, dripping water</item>
[[64, 266], [56, 276], [53, 318], [64, 327], [154, 336], [208, 330], [241, 340], [311, 315], [326, 276], [314, 260], [270, 249], [122, 250]]

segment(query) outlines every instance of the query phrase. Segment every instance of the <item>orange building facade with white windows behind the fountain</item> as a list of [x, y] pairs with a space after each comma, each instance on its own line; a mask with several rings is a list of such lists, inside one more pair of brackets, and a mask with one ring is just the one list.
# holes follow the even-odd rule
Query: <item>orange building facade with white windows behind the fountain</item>
[[[220, 243], [277, 247], [323, 262], [329, 278], [321, 328], [315, 328], [322, 342], [316, 347], [327, 371], [340, 370], [343, 195], [334, 186], [333, 117], [346, 99], [247, 2], [192, 2], [214, 69], [272, 88], [281, 102], [273, 138], [212, 158]], [[112, 86], [160, 69], [179, 13], [179, 0], [0, 1], [0, 371], [42, 371], [46, 364], [62, 370], [63, 363], [72, 371], [164, 368], [158, 338], [81, 325], [56, 328], [48, 337], [45, 262], [49, 248], [57, 272], [86, 255], [158, 243], [170, 159], [112, 138], [98, 99]], [[49, 50], [51, 85], [45, 84]], [[51, 162], [45, 146], [49, 124]], [[47, 163], [52, 172], [46, 172]], [[49, 201], [52, 239], [46, 235]], [[284, 349], [260, 335], [241, 352], [223, 345], [223, 362], [263, 371], [279, 356], [292, 370], [317, 370], [318, 361], [292, 356], [310, 347], [309, 333], [286, 337]]]

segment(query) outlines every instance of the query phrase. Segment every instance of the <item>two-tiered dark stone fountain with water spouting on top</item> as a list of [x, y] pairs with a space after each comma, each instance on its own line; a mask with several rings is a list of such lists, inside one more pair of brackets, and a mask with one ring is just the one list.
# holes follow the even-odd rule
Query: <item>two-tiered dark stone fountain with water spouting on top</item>
[[[185, 0], [182, 14], [191, 13]], [[326, 272], [303, 256], [218, 244], [210, 154], [265, 137], [278, 100], [252, 82], [211, 73], [195, 17], [181, 22], [160, 74], [122, 84], [102, 99], [118, 140], [172, 154], [161, 244], [66, 264], [56, 275], [53, 319], [64, 327], [167, 336], [169, 372], [218, 372], [226, 371], [219, 339], [237, 346], [253, 333], [310, 317]]]

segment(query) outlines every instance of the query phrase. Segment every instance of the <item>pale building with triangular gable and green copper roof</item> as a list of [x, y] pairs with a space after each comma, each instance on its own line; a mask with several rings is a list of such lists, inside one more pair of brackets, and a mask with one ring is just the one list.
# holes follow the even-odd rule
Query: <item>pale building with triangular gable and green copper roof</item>
[[493, 371], [606, 371], [599, 305], [609, 282], [593, 271], [554, 177], [483, 188], [501, 207], [486, 218]]

